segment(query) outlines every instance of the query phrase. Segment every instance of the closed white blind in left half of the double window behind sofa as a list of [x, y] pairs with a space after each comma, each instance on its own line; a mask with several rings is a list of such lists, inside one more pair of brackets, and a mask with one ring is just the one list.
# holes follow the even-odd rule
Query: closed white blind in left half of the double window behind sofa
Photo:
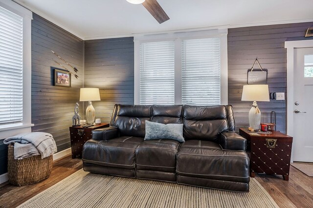
[[140, 44], [140, 104], [174, 104], [174, 42]]

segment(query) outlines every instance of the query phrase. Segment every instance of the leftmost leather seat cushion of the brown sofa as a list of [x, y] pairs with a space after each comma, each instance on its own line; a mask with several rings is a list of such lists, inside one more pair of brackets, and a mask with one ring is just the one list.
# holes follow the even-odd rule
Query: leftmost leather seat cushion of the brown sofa
[[88, 140], [83, 147], [83, 162], [98, 166], [135, 168], [135, 150], [140, 137], [123, 136], [108, 141]]

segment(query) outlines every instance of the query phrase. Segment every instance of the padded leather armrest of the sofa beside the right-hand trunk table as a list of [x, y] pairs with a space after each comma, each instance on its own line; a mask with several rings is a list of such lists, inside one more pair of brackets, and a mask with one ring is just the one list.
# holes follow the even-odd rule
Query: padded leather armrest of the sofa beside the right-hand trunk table
[[222, 132], [220, 135], [220, 145], [223, 149], [246, 151], [246, 139], [235, 132]]

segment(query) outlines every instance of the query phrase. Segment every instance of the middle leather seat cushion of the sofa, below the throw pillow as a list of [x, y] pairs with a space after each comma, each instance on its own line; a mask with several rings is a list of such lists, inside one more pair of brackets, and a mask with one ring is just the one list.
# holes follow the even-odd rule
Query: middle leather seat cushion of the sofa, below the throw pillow
[[146, 140], [136, 149], [136, 169], [175, 173], [179, 142], [175, 140]]

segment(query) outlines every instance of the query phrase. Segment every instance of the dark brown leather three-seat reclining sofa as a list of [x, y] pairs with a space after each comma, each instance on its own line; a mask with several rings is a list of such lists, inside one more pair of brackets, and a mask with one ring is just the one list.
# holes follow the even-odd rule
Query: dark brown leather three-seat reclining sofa
[[[147, 121], [183, 124], [185, 142], [145, 140]], [[231, 105], [115, 104], [110, 127], [92, 131], [85, 171], [248, 192], [246, 139], [235, 132]]]

